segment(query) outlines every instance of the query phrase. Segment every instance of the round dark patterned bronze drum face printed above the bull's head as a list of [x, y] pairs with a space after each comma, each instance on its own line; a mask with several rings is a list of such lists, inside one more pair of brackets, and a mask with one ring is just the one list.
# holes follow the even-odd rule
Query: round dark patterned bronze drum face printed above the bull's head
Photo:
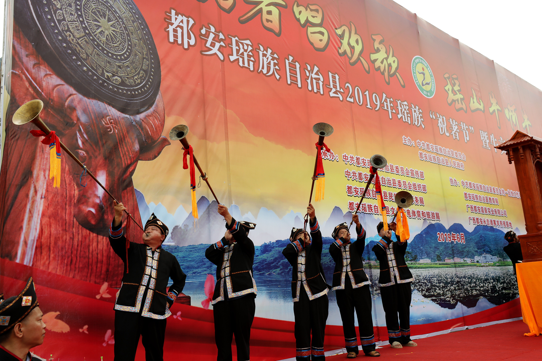
[[[75, 10], [73, 1], [16, 1], [15, 21], [43, 60], [81, 95], [121, 113], [142, 113], [156, 101], [162, 78], [151, 31], [133, 0], [99, 3]], [[106, 41], [104, 22], [114, 41]]]

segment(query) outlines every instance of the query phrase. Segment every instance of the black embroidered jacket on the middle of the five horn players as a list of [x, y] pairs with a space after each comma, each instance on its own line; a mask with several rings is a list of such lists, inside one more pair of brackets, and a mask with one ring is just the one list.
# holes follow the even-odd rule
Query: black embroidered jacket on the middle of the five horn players
[[331, 286], [326, 283], [324, 268], [320, 262], [322, 255], [322, 234], [318, 220], [311, 227], [312, 242], [304, 246], [295, 240], [289, 243], [282, 254], [292, 265], [292, 298], [299, 301], [301, 287], [305, 288], [308, 299], [313, 300], [324, 296]]

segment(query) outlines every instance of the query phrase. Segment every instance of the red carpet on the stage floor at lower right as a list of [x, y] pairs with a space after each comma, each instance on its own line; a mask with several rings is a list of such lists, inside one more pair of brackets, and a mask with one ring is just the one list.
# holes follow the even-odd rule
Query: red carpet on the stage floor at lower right
[[[382, 356], [377, 360], [541, 360], [542, 337], [525, 337], [525, 332], [529, 332], [529, 329], [521, 320], [451, 332], [415, 340], [418, 347], [392, 349], [386, 345], [378, 349]], [[365, 361], [369, 357], [362, 353], [356, 359]], [[326, 360], [346, 360], [346, 353], [326, 357]]]

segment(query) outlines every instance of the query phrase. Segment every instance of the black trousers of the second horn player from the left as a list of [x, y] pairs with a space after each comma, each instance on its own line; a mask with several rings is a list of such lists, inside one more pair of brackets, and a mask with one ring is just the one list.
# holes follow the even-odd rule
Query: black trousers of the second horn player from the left
[[250, 359], [250, 327], [254, 320], [256, 305], [254, 293], [234, 300], [220, 301], [212, 306], [215, 318], [215, 343], [217, 361], [231, 361], [231, 340], [235, 335], [237, 360]]

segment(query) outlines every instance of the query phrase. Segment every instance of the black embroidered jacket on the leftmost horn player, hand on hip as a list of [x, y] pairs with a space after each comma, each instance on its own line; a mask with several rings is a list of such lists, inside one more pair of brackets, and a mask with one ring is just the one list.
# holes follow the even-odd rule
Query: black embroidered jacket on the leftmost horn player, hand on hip
[[[180, 269], [175, 256], [158, 247], [152, 251], [144, 244], [130, 242], [128, 273], [126, 273], [126, 238], [121, 225], [109, 228], [109, 244], [124, 261], [122, 285], [117, 292], [115, 310], [140, 312], [141, 316], [164, 319], [171, 316], [166, 302], [171, 305], [183, 291], [186, 274]], [[167, 282], [173, 280], [169, 291]]]

